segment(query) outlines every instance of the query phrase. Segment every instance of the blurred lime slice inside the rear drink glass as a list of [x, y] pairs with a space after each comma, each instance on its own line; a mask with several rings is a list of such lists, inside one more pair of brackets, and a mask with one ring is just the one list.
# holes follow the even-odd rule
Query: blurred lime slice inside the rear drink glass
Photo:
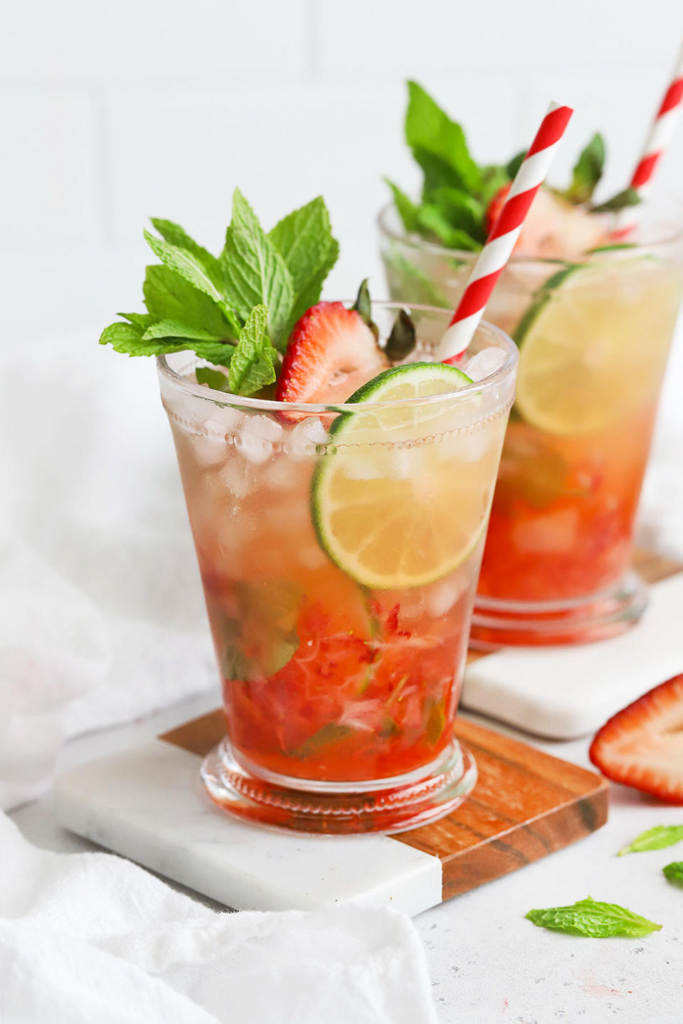
[[554, 434], [616, 425], [656, 396], [681, 282], [651, 257], [564, 267], [514, 338], [517, 412]]

